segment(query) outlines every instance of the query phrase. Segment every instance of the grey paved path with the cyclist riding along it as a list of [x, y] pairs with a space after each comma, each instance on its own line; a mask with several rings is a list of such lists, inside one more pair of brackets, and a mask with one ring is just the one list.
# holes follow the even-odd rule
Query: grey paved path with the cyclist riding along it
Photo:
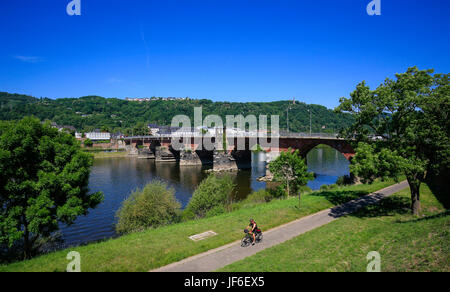
[[406, 181], [382, 189], [343, 205], [320, 211], [307, 217], [289, 222], [264, 232], [264, 240], [260, 244], [243, 248], [240, 241], [221, 246], [216, 249], [186, 258], [182, 261], [153, 270], [152, 272], [211, 272], [231, 263], [254, 255], [266, 248], [283, 243], [300, 234], [330, 223], [339, 217], [355, 212], [357, 209], [375, 204], [381, 199], [408, 187]]

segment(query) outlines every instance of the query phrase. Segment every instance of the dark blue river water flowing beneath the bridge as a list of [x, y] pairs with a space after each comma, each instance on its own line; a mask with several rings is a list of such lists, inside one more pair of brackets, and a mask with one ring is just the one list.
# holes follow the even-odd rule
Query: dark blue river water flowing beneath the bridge
[[[308, 168], [317, 174], [308, 186], [317, 190], [334, 184], [339, 176], [349, 174], [345, 157], [328, 146], [319, 146], [308, 153]], [[89, 188], [102, 191], [105, 200], [87, 216], [79, 217], [72, 226], [61, 226], [64, 246], [74, 246], [117, 236], [114, 231], [115, 213], [121, 203], [136, 188], [152, 180], [163, 180], [174, 188], [175, 196], [184, 208], [195, 188], [206, 177], [210, 167], [179, 167], [176, 163], [156, 163], [137, 158], [96, 159], [92, 167]], [[257, 181], [265, 175], [264, 154], [253, 154], [252, 168], [233, 174], [237, 185], [235, 200], [253, 191], [264, 189], [265, 182]]]

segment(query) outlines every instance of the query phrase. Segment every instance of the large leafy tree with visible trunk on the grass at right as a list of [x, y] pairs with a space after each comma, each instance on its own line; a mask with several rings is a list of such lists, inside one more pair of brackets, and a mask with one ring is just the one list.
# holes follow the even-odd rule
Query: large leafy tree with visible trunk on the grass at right
[[432, 73], [412, 67], [376, 90], [362, 82], [336, 108], [355, 120], [341, 133], [358, 145], [351, 171], [366, 181], [405, 175], [415, 215], [427, 171], [448, 167], [450, 159], [449, 74]]

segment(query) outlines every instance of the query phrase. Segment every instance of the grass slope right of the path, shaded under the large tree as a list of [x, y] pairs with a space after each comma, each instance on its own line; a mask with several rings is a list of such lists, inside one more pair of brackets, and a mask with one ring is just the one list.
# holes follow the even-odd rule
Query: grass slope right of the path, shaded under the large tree
[[410, 215], [409, 190], [224, 267], [226, 272], [358, 271], [381, 255], [382, 271], [450, 271], [450, 213], [421, 189], [422, 217]]

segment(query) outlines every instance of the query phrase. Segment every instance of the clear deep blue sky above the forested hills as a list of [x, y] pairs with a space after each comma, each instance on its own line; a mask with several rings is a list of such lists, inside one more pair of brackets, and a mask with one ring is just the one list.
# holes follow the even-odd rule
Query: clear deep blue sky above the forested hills
[[450, 1], [0, 2], [0, 91], [50, 98], [295, 97], [335, 107], [410, 66], [449, 73]]

